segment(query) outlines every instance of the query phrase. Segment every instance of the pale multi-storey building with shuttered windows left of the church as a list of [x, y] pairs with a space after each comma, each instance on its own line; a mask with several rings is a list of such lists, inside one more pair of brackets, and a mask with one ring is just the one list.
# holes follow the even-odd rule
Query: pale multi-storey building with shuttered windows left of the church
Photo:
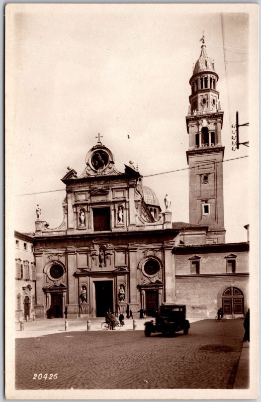
[[34, 261], [33, 233], [25, 234], [15, 231], [15, 316], [16, 319], [35, 314], [36, 270]]

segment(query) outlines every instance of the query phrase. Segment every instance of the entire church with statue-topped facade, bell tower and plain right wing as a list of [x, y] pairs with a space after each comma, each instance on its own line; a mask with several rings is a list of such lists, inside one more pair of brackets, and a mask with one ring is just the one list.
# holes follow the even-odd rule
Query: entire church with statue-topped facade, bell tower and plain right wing
[[[37, 214], [34, 234], [36, 318], [104, 317], [161, 304], [186, 304], [188, 315], [212, 317], [218, 307], [242, 316], [248, 308], [249, 243], [225, 243], [223, 112], [218, 75], [202, 52], [190, 79], [190, 222], [172, 222], [142, 175], [117, 170], [100, 141], [82, 174], [62, 178], [63, 221], [51, 229]], [[39, 207], [39, 206], [38, 206]]]

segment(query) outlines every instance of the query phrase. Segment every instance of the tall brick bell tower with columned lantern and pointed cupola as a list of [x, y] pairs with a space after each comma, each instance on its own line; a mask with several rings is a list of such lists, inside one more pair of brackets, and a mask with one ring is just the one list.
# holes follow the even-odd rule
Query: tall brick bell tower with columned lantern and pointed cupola
[[218, 75], [202, 38], [201, 55], [190, 79], [189, 210], [190, 223], [208, 226], [207, 243], [225, 243], [223, 205], [223, 156], [221, 142], [223, 112], [217, 90]]

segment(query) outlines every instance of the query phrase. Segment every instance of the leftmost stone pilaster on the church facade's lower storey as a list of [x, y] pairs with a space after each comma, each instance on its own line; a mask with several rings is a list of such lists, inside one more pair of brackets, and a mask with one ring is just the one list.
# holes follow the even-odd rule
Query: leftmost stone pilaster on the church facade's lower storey
[[46, 295], [43, 292], [43, 253], [35, 252], [35, 272], [36, 272], [36, 291], [35, 291], [35, 318], [46, 318]]

